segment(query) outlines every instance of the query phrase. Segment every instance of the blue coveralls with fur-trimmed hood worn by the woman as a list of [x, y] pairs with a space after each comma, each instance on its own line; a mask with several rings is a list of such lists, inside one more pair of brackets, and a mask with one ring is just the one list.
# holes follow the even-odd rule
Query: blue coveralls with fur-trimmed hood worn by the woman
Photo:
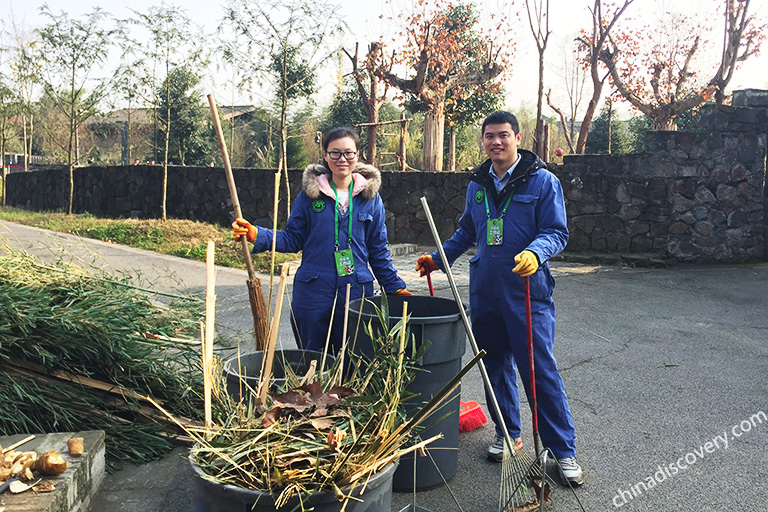
[[[335, 198], [321, 191], [318, 176], [331, 171], [322, 165], [304, 170], [302, 191], [296, 197], [285, 230], [277, 231], [277, 252], [302, 251], [301, 266], [293, 281], [291, 302], [293, 332], [300, 348], [323, 350], [336, 297], [331, 345], [338, 353], [343, 335], [347, 283], [352, 285], [350, 300], [373, 295], [373, 279], [387, 294], [405, 288], [397, 275], [387, 247], [384, 204], [379, 196], [381, 174], [370, 165], [357, 164], [353, 174], [367, 180], [365, 189], [350, 198], [352, 203], [352, 255], [355, 273], [340, 277], [334, 259], [335, 226], [333, 215], [339, 215], [339, 249], [349, 247], [349, 208], [336, 212]], [[272, 248], [272, 230], [259, 227], [253, 253]], [[370, 267], [369, 267], [370, 265]]]

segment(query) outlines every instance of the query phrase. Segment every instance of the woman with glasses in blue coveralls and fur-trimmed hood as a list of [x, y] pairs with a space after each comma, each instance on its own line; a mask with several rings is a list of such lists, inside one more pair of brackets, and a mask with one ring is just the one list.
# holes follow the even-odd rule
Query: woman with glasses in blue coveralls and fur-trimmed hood
[[[293, 334], [303, 349], [325, 347], [335, 297], [330, 343], [338, 353], [347, 284], [352, 285], [351, 300], [373, 295], [374, 275], [385, 293], [410, 295], [387, 248], [384, 204], [378, 193], [381, 174], [357, 161], [359, 142], [349, 128], [325, 135], [325, 165], [304, 170], [302, 191], [285, 230], [276, 232], [278, 252], [303, 251], [291, 303]], [[232, 229], [235, 240], [246, 236], [253, 242], [254, 254], [272, 247], [271, 229], [252, 226], [245, 219], [237, 219]]]

